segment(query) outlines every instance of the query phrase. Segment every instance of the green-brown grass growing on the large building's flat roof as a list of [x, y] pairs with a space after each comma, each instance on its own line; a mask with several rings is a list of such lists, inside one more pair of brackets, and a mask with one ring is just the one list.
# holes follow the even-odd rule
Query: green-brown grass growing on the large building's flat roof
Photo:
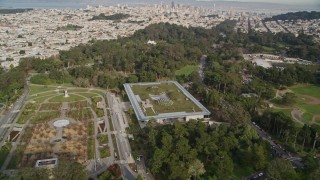
[[[149, 95], [160, 95], [165, 93], [173, 102], [172, 105], [160, 104], [151, 100], [156, 114], [159, 113], [173, 113], [173, 112], [199, 112], [200, 108], [187, 98], [175, 84], [161, 84], [161, 85], [135, 85], [132, 86], [132, 91], [135, 95], [139, 95], [141, 100], [146, 100]], [[149, 108], [148, 108], [149, 109]], [[152, 110], [147, 110], [147, 115], [154, 115]]]

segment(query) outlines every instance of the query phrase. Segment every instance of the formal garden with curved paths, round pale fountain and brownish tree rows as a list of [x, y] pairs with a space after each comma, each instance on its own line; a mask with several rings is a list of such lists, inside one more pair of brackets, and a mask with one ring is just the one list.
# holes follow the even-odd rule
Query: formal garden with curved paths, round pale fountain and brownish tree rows
[[[15, 141], [7, 169], [33, 167], [37, 160], [53, 157], [88, 165], [96, 156], [96, 143], [100, 146], [101, 158], [109, 157], [108, 136], [101, 134], [96, 138], [101, 132], [94, 125], [96, 118], [104, 116], [102, 107], [98, 107], [104, 100], [103, 93], [92, 91], [69, 86], [31, 85], [17, 120], [17, 125], [24, 128], [18, 132], [21, 137]], [[7, 144], [1, 150], [1, 162], [12, 147]]]

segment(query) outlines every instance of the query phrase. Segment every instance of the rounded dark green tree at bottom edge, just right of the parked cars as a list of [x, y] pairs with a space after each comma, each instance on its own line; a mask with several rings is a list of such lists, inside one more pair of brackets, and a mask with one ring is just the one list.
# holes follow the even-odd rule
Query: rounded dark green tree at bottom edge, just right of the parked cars
[[272, 160], [267, 166], [267, 176], [274, 180], [298, 179], [296, 171], [293, 169], [290, 161], [277, 158]]

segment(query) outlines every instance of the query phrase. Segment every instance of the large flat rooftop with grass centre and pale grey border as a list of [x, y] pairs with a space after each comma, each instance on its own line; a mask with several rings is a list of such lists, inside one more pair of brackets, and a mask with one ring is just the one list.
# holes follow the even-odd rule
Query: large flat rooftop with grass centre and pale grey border
[[139, 121], [210, 115], [210, 112], [176, 81], [124, 84]]

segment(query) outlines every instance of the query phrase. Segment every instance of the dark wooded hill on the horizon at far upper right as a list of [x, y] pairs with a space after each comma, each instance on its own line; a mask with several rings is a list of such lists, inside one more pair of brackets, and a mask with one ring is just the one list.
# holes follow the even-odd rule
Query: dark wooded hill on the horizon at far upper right
[[296, 21], [298, 19], [301, 20], [313, 20], [313, 19], [320, 19], [320, 12], [316, 11], [300, 11], [300, 12], [289, 12], [286, 14], [280, 14], [276, 16], [272, 16], [271, 18], [265, 18], [264, 21], [276, 21], [276, 20], [289, 20], [289, 21]]

